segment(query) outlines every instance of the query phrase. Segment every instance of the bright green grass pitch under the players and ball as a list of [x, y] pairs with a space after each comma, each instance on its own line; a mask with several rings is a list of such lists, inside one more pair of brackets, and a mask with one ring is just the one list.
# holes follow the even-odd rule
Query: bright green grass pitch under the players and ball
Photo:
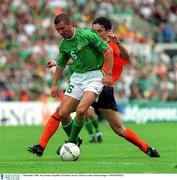
[[66, 138], [58, 129], [39, 158], [29, 154], [36, 144], [41, 126], [0, 127], [0, 173], [177, 173], [177, 124], [126, 124], [160, 152], [161, 158], [149, 158], [134, 145], [114, 134], [107, 123], [101, 123], [104, 142], [89, 144], [85, 128], [84, 143], [78, 161], [63, 162], [56, 149]]

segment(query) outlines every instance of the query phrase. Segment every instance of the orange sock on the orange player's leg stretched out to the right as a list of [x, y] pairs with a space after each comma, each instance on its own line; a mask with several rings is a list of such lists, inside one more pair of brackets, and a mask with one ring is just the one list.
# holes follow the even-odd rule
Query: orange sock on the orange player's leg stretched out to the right
[[138, 146], [143, 152], [148, 149], [148, 144], [142, 141], [131, 129], [126, 128], [125, 139]]

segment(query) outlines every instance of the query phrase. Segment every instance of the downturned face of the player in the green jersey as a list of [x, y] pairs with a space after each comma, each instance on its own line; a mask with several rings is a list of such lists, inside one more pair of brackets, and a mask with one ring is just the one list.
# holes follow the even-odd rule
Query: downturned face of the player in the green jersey
[[74, 30], [72, 24], [66, 24], [64, 21], [61, 21], [55, 24], [55, 28], [64, 39], [69, 39], [73, 36]]

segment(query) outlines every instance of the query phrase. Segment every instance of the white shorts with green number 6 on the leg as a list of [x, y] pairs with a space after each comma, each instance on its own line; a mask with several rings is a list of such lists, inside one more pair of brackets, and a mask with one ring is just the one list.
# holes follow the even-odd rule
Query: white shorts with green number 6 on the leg
[[70, 84], [66, 88], [65, 95], [74, 99], [81, 100], [85, 91], [91, 91], [100, 94], [103, 88], [101, 82], [103, 78], [101, 70], [89, 71], [86, 73], [73, 73], [70, 78]]

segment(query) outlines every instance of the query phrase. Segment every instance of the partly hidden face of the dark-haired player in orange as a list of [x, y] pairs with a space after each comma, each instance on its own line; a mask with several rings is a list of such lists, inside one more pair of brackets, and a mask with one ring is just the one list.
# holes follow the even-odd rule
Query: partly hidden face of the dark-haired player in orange
[[108, 39], [108, 33], [109, 31], [106, 30], [102, 25], [100, 24], [94, 24], [92, 26], [93, 30], [105, 41]]

